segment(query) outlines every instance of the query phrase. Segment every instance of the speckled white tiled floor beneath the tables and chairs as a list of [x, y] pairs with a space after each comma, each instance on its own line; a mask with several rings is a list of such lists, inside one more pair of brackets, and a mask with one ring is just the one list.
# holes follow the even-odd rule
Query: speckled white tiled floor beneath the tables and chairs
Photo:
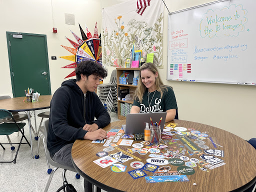
[[[37, 110], [36, 115], [40, 112], [46, 111]], [[33, 115], [33, 114], [32, 114]], [[117, 114], [114, 112], [110, 113], [111, 121], [116, 121]], [[32, 125], [34, 125], [34, 117], [31, 118]], [[36, 116], [36, 124], [39, 126], [41, 118]], [[26, 122], [24, 131], [25, 136], [29, 140], [29, 131], [28, 131], [28, 123]], [[21, 136], [20, 134], [17, 136], [17, 133], [13, 133], [10, 135], [10, 139], [12, 142], [19, 142]], [[23, 139], [24, 140], [24, 139]], [[29, 140], [30, 141], [30, 140]], [[5, 135], [0, 135], [1, 143], [8, 143], [7, 137]], [[37, 148], [37, 140], [33, 138], [33, 152], [34, 155], [36, 153]], [[17, 144], [14, 145], [15, 150], [10, 150], [10, 145], [4, 144], [5, 150], [0, 147], [0, 160], [12, 160], [15, 156]], [[53, 168], [51, 166], [51, 168]], [[0, 191], [4, 192], [34, 192], [34, 191], [44, 191], [45, 185], [47, 183], [49, 174], [47, 173], [47, 164], [45, 159], [45, 154], [43, 150], [42, 140], [40, 142], [39, 149], [39, 158], [31, 158], [31, 150], [28, 144], [21, 144], [16, 163], [0, 163]], [[62, 170], [57, 169], [54, 173], [50, 186], [49, 192], [55, 192], [63, 183], [62, 180]], [[75, 173], [72, 171], [66, 171], [66, 178], [68, 183], [71, 183], [77, 192], [84, 191], [83, 189], [83, 178], [80, 179], [75, 178]], [[102, 190], [103, 191], [103, 190]]]

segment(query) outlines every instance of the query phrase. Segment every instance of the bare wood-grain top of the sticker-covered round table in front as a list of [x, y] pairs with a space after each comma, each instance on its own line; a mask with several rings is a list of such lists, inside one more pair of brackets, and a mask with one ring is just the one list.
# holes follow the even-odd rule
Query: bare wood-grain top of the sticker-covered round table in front
[[[127, 166], [125, 172], [113, 172], [110, 169], [111, 165], [102, 168], [93, 162], [93, 160], [100, 158], [95, 154], [99, 151], [103, 151], [103, 148], [105, 148], [103, 143], [91, 143], [91, 140], [76, 140], [72, 146], [71, 152], [73, 165], [84, 178], [106, 191], [243, 191], [255, 182], [256, 150], [247, 141], [228, 131], [206, 124], [176, 119], [171, 122], [177, 123], [179, 127], [194, 128], [200, 132], [207, 132], [209, 137], [222, 147], [216, 145], [217, 148], [214, 148], [209, 139], [203, 139], [203, 141], [206, 142], [205, 145], [209, 146], [210, 149], [223, 150], [224, 157], [215, 157], [224, 160], [223, 162], [225, 164], [213, 169], [208, 168], [207, 171], [205, 171], [199, 168], [202, 167], [202, 165], [196, 163], [197, 166], [193, 167], [195, 173], [187, 175], [189, 181], [146, 183], [144, 177], [133, 179], [127, 173], [127, 171], [134, 170], [134, 168], [130, 166], [130, 163], [137, 161], [137, 159], [133, 158], [122, 163]], [[125, 124], [125, 120], [112, 122], [104, 129], [107, 131], [113, 127], [116, 128], [119, 126], [120, 128], [121, 124]], [[176, 135], [177, 134], [173, 135], [172, 138], [175, 138]], [[190, 140], [195, 141], [196, 139]], [[139, 141], [133, 141], [133, 143], [134, 142]], [[132, 148], [132, 146], [123, 147]], [[163, 149], [160, 150], [164, 151]], [[109, 151], [108, 154], [118, 151], [119, 150], [115, 148]], [[146, 163], [146, 159], [149, 158], [149, 154], [148, 152], [145, 155], [141, 155], [143, 156], [141, 161], [144, 164]], [[185, 153], [184, 156], [201, 160], [200, 155], [197, 154], [189, 156], [189, 153]], [[171, 171], [177, 170], [178, 167], [170, 164], [159, 165], [159, 167], [161, 166], [170, 166]], [[152, 176], [152, 172], [144, 172], [147, 176]], [[196, 183], [196, 185], [193, 183]]]

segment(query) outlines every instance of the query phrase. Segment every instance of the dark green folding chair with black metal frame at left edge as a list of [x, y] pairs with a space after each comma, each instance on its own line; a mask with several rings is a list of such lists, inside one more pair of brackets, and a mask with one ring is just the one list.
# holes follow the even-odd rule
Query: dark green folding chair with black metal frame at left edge
[[[20, 147], [20, 144], [21, 144], [23, 138], [26, 140], [25, 143], [27, 143], [29, 145], [29, 147], [31, 147], [28, 140], [26, 139], [26, 137], [24, 135], [24, 126], [25, 126], [26, 123], [24, 123], [24, 122], [17, 123], [15, 121], [15, 119], [13, 118], [12, 114], [8, 110], [0, 109], [0, 119], [6, 119], [6, 118], [11, 119], [12, 122], [2, 122], [2, 123], [0, 123], [0, 135], [6, 135], [7, 136], [9, 144], [11, 145], [11, 150], [14, 150], [14, 146], [12, 146], [12, 143], [11, 143], [10, 138], [9, 138], [9, 134], [19, 131], [19, 132], [21, 132], [22, 136], [21, 136], [21, 139], [20, 139], [19, 143], [13, 143], [13, 144], [19, 144], [14, 159], [12, 161], [0, 161], [0, 162], [16, 163], [18, 150], [19, 150], [19, 147]], [[8, 143], [2, 143], [2, 144], [8, 144]], [[2, 144], [1, 144], [1, 146], [2, 146]], [[3, 146], [2, 146], [2, 148], [3, 148], [3, 150], [5, 150], [5, 148]]]

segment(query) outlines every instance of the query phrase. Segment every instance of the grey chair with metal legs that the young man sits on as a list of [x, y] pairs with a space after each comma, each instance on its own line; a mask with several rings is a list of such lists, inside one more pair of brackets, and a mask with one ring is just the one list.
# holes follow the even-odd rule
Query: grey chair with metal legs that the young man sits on
[[[58, 168], [63, 168], [63, 172], [62, 172], [62, 178], [63, 178], [63, 181], [66, 181], [66, 177], [65, 177], [65, 172], [66, 170], [71, 170], [73, 172], [76, 172], [76, 170], [74, 168], [71, 168], [69, 166], [65, 166], [63, 164], [60, 164], [58, 162], [55, 162], [54, 160], [52, 160], [52, 158], [50, 157], [50, 153], [48, 151], [48, 148], [47, 148], [47, 144], [46, 144], [46, 141], [45, 139], [47, 140], [47, 132], [48, 132], [48, 125], [49, 125], [49, 119], [45, 120], [44, 121], [44, 126], [43, 127], [43, 134], [44, 134], [44, 137], [43, 137], [43, 146], [44, 146], [44, 149], [45, 149], [45, 152], [46, 152], [46, 159], [47, 161], [55, 166], [55, 168], [50, 172], [50, 176], [48, 178], [48, 181], [47, 181], [47, 184], [45, 186], [45, 189], [44, 189], [44, 192], [47, 192], [48, 191], [48, 188], [49, 188], [49, 185], [50, 185], [50, 182], [51, 182], [51, 179], [52, 179], [52, 176], [54, 174], [54, 172], [58, 169]], [[76, 173], [75, 175], [76, 178], [80, 178], [80, 175], [78, 173]]]

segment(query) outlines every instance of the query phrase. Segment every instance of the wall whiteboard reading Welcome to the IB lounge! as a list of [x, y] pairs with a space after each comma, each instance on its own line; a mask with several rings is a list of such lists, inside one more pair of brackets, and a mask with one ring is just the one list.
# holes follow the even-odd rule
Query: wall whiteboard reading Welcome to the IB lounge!
[[170, 13], [167, 80], [256, 84], [255, 7], [219, 0]]

